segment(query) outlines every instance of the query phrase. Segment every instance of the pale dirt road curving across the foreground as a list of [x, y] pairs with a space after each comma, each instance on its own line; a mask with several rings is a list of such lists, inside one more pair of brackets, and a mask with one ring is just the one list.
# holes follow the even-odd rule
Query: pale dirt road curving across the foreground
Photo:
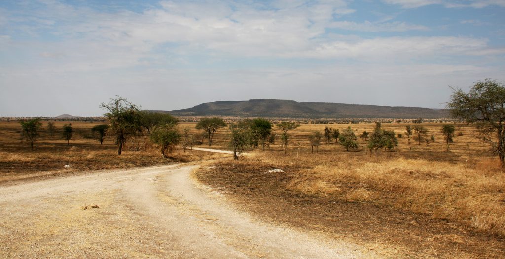
[[[192, 179], [197, 165], [0, 187], [1, 258], [362, 258], [357, 245], [263, 222]], [[96, 204], [98, 209], [82, 207]]]

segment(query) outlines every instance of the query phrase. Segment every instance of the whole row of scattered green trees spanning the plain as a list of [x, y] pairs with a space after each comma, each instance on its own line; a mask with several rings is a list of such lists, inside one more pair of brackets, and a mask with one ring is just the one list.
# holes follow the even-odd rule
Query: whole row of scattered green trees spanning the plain
[[[141, 111], [137, 105], [121, 97], [112, 99], [110, 103], [104, 103], [100, 107], [105, 109], [104, 116], [108, 123], [95, 125], [91, 131], [100, 144], [106, 136], [113, 136], [118, 145], [118, 154], [121, 154], [123, 144], [128, 138], [136, 136], [144, 129], [149, 134], [151, 142], [160, 148], [165, 157], [180, 142], [184, 149], [192, 147], [195, 142], [195, 136], [189, 134], [188, 128], [183, 130], [183, 134], [179, 132], [176, 127], [178, 119], [170, 114]], [[497, 81], [486, 79], [475, 83], [468, 92], [453, 88], [447, 108], [454, 118], [464, 119], [467, 123], [476, 126], [478, 138], [491, 146], [493, 152], [498, 155], [501, 168], [505, 169], [505, 86]], [[411, 137], [418, 145], [421, 145], [423, 141], [435, 140], [433, 135], [428, 139], [428, 131], [421, 125], [422, 119], [414, 122], [417, 123], [406, 126], [405, 136], [408, 138], [409, 145]], [[21, 120], [20, 123], [22, 138], [28, 140], [33, 150], [33, 144], [39, 136], [42, 125], [40, 118]], [[289, 132], [299, 124], [293, 121], [277, 123], [275, 126], [279, 134], [275, 134], [273, 124], [264, 118], [244, 119], [228, 125], [222, 118], [213, 117], [201, 119], [196, 124], [196, 129], [205, 132], [211, 146], [216, 131], [226, 126], [230, 130], [229, 145], [234, 151], [234, 158], [238, 158], [237, 153], [244, 149], [254, 149], [259, 146], [265, 149], [265, 146], [273, 144], [276, 138], [279, 139], [284, 153], [287, 153], [291, 138]], [[47, 132], [54, 134], [55, 130], [53, 122], [49, 122]], [[455, 138], [454, 125], [442, 125], [441, 133], [448, 146]], [[71, 123], [63, 126], [62, 134], [68, 145], [73, 135]], [[358, 148], [358, 137], [350, 126], [341, 132], [326, 126], [323, 134], [314, 132], [310, 136], [312, 152], [314, 152], [314, 147], [318, 152], [323, 137], [327, 144], [335, 140], [335, 143], [340, 144], [347, 151]], [[381, 123], [377, 122], [372, 133], [365, 131], [359, 137], [367, 141], [367, 148], [372, 154], [380, 149], [395, 150], [398, 145], [397, 139], [403, 138], [403, 134], [395, 135], [393, 131], [384, 130]]]

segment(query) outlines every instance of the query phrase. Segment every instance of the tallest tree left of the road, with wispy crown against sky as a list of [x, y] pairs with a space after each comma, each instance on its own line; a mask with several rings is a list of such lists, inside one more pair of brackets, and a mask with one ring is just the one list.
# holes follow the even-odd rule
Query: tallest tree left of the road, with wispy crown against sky
[[121, 155], [126, 140], [140, 131], [139, 107], [118, 96], [108, 104], [102, 103], [100, 108], [107, 112], [104, 116], [109, 122], [109, 133], [116, 136], [118, 155]]

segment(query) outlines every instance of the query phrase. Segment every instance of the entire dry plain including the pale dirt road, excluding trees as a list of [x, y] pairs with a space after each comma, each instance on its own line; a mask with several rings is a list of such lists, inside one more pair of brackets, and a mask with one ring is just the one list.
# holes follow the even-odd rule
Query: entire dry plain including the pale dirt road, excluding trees
[[[313, 150], [310, 136], [374, 123], [302, 123], [286, 154], [276, 141], [234, 160], [181, 147], [165, 158], [144, 135], [119, 156], [91, 136], [103, 122], [55, 121], [54, 135], [46, 123], [32, 151], [19, 121], [0, 121], [0, 257], [505, 257], [505, 175], [471, 124], [453, 124], [447, 145], [444, 123], [421, 123], [421, 144], [405, 136], [413, 123], [382, 123], [403, 136], [371, 153], [365, 139]], [[178, 127], [201, 136], [195, 124]], [[229, 135], [210, 148], [228, 150]]]

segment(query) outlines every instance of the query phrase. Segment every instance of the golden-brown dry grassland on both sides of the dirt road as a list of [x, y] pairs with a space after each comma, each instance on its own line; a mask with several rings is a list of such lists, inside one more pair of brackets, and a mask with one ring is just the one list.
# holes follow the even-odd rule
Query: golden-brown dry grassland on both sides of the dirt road
[[[60, 129], [64, 123], [55, 122]], [[75, 134], [70, 146], [60, 132], [51, 137], [42, 131], [35, 150], [30, 151], [29, 144], [20, 141], [19, 122], [0, 121], [0, 181], [44, 172], [217, 159], [210, 162], [217, 169], [200, 170], [197, 178], [228, 190], [230, 199], [252, 213], [318, 231], [347, 231], [357, 240], [396, 243], [410, 249], [414, 257], [451, 257], [456, 251], [468, 258], [505, 256], [505, 174], [471, 125], [456, 124], [457, 136], [448, 149], [440, 132], [442, 123], [423, 123], [428, 138], [434, 135], [435, 142], [421, 145], [414, 140], [408, 144], [406, 123], [383, 123], [386, 130], [404, 135], [394, 152], [370, 154], [364, 140], [359, 140], [358, 150], [346, 152], [340, 145], [322, 140], [319, 153], [311, 154], [309, 135], [322, 133], [325, 126], [342, 131], [350, 125], [358, 136], [363, 131], [371, 133], [375, 125], [302, 124], [291, 132], [287, 155], [276, 143], [266, 151], [246, 151], [252, 155], [234, 161], [231, 156], [218, 158], [180, 148], [164, 159], [146, 136], [128, 142], [124, 154], [118, 156], [111, 137], [104, 145], [88, 138], [90, 128], [99, 123], [72, 122]], [[183, 122], [179, 127], [189, 126], [193, 134], [200, 135], [194, 125]], [[227, 129], [218, 131], [212, 148], [226, 149], [227, 136]], [[66, 164], [72, 168], [63, 169]], [[286, 173], [265, 174], [269, 168]], [[282, 208], [284, 212], [279, 211]], [[286, 217], [289, 213], [297, 216]], [[363, 230], [367, 228], [369, 231]], [[414, 234], [407, 235], [406, 228]]]

